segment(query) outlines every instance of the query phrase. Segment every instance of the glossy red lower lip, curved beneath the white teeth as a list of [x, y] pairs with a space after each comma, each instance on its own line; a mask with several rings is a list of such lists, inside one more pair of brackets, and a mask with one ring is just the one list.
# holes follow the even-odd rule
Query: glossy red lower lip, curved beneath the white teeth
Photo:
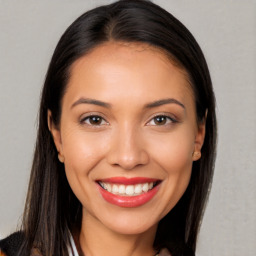
[[148, 201], [150, 201], [155, 194], [157, 193], [159, 189], [159, 185], [155, 186], [151, 190], [149, 190], [146, 193], [143, 193], [138, 196], [120, 196], [120, 195], [115, 195], [107, 190], [103, 189], [100, 185], [99, 186], [99, 191], [102, 195], [102, 197], [111, 204], [117, 205], [119, 207], [125, 207], [125, 208], [133, 208], [133, 207], [139, 207], [141, 205], [146, 204]]

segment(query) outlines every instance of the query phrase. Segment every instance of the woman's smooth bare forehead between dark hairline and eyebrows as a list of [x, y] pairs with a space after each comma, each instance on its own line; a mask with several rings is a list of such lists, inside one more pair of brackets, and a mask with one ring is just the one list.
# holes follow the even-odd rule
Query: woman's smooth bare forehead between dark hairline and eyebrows
[[92, 97], [97, 93], [97, 97], [106, 97], [104, 100], [107, 95], [124, 97], [124, 92], [126, 98], [148, 96], [148, 100], [174, 91], [180, 97], [193, 97], [187, 72], [163, 50], [124, 42], [102, 44], [75, 61], [67, 91], [74, 97], [79, 91]]

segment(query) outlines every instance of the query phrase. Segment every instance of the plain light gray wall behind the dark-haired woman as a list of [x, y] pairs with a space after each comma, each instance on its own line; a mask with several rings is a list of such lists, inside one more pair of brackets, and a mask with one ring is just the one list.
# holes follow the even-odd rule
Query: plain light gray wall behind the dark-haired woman
[[[0, 238], [19, 223], [50, 57], [67, 26], [112, 1], [0, 0]], [[155, 0], [196, 37], [212, 75], [218, 156], [198, 256], [256, 252], [256, 2]]]

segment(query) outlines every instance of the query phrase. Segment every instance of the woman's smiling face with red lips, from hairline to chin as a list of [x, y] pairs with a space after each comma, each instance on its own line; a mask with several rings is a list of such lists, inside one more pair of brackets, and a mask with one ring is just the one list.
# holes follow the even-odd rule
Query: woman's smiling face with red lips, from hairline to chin
[[77, 60], [60, 126], [49, 126], [83, 221], [122, 234], [174, 207], [204, 140], [185, 72], [143, 44], [109, 42]]

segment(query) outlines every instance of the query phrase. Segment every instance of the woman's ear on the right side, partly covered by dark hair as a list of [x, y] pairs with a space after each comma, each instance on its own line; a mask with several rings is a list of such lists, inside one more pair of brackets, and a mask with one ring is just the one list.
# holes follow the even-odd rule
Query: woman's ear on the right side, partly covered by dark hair
[[204, 120], [201, 121], [197, 126], [197, 132], [196, 132], [195, 142], [194, 142], [194, 152], [192, 154], [193, 161], [197, 161], [201, 158], [201, 149], [203, 147], [204, 138], [205, 138], [206, 118], [207, 118], [207, 111], [206, 111]]

